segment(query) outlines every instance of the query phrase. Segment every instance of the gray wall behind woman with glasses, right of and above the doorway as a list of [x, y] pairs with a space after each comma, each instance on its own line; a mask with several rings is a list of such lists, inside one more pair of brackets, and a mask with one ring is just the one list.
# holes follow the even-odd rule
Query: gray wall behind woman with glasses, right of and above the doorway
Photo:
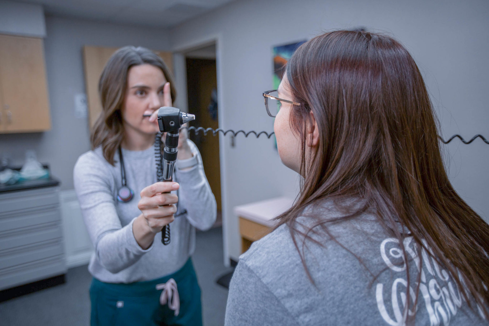
[[[172, 48], [218, 37], [222, 76], [221, 128], [272, 130], [262, 91], [272, 87], [273, 45], [309, 39], [324, 30], [367, 26], [392, 32], [416, 59], [445, 137], [489, 137], [487, 0], [239, 0], [170, 30]], [[178, 76], [177, 76], [178, 78]], [[224, 243], [240, 254], [235, 205], [290, 195], [297, 175], [285, 168], [273, 140], [223, 142]], [[489, 214], [489, 145], [443, 145], [455, 189], [483, 217]]]

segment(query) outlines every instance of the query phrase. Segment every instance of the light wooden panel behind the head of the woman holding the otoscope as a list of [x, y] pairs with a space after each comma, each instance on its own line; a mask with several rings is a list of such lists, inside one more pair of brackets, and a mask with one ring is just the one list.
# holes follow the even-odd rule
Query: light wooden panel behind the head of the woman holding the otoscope
[[[100, 112], [102, 103], [98, 94], [98, 82], [104, 70], [105, 64], [118, 47], [89, 46], [83, 47], [83, 62], [85, 66], [85, 86], [87, 89], [87, 102], [89, 108], [89, 126], [95, 124]], [[171, 52], [153, 51], [159, 55], [170, 71], [173, 72], [173, 55]]]

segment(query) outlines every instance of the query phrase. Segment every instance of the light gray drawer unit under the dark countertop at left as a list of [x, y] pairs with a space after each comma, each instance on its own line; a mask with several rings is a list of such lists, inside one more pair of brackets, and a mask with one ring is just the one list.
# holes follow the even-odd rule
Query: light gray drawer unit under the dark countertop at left
[[66, 274], [58, 187], [0, 193], [0, 291]]

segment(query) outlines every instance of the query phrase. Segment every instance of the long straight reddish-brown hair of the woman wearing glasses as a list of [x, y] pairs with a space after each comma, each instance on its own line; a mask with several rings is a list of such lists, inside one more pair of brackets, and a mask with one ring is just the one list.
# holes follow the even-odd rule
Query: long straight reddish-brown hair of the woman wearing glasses
[[[432, 104], [406, 48], [382, 33], [328, 32], [302, 44], [286, 73], [292, 97], [301, 104], [292, 106], [290, 126], [302, 140], [303, 178], [293, 207], [277, 217], [276, 227], [288, 225], [310, 279], [297, 235], [315, 241], [309, 236], [314, 229], [327, 231], [328, 222], [369, 209], [399, 240], [404, 261], [406, 234], [395, 227], [397, 222], [410, 231], [418, 250], [448, 269], [467, 303], [475, 298], [489, 316], [484, 304], [489, 302], [484, 285], [489, 284], [489, 226], [450, 184]], [[306, 159], [310, 111], [319, 144]], [[298, 227], [297, 217], [306, 207], [345, 197], [365, 204], [344, 217], [314, 217], [307, 232]], [[406, 292], [407, 310], [411, 300]]]

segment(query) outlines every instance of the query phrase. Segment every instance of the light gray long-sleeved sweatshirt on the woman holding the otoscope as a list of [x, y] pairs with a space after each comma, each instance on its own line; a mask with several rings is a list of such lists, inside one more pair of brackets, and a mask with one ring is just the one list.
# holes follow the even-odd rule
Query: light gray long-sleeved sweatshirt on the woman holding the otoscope
[[141, 214], [137, 208], [141, 190], [156, 182], [154, 147], [145, 151], [122, 149], [127, 185], [134, 191], [134, 198], [127, 203], [117, 201], [122, 185], [117, 152], [115, 166], [105, 160], [101, 147], [78, 158], [73, 171], [74, 186], [95, 248], [89, 263], [93, 277], [108, 283], [154, 280], [177, 271], [193, 254], [195, 228], [206, 230], [212, 226], [216, 199], [205, 177], [199, 150], [188, 142], [199, 163], [190, 170], [176, 169], [174, 174], [180, 189], [178, 211], [170, 224], [171, 242], [163, 245], [158, 233], [146, 250], [134, 239], [133, 221]]

